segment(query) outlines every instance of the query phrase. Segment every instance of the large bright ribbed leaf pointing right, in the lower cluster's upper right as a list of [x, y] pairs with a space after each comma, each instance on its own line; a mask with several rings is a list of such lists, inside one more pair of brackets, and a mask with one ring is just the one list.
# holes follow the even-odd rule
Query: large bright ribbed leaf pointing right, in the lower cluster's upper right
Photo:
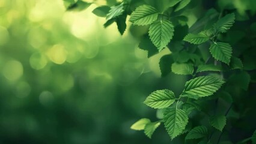
[[223, 83], [225, 82], [217, 77], [201, 76], [186, 82], [183, 93], [207, 97], [218, 91]]

